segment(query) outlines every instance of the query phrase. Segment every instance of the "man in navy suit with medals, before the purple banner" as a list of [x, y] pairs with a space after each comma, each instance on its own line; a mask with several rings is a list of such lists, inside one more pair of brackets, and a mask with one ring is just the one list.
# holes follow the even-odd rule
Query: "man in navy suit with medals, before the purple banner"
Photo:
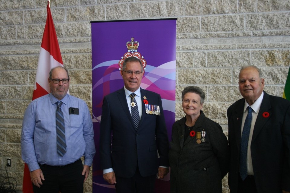
[[161, 97], [140, 88], [143, 68], [139, 59], [125, 59], [121, 75], [124, 88], [103, 100], [100, 124], [103, 177], [115, 184], [118, 193], [153, 193], [156, 175], [163, 179], [169, 172], [169, 142]]

